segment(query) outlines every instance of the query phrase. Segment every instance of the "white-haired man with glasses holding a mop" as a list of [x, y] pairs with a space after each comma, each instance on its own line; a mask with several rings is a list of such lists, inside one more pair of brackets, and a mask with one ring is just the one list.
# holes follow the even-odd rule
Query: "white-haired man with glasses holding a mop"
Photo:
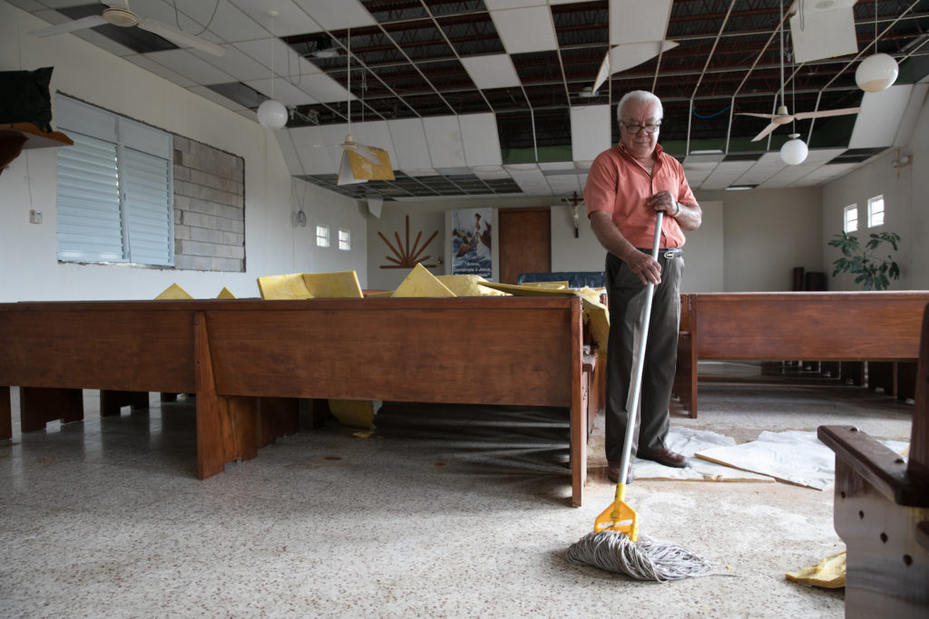
[[[587, 216], [596, 239], [607, 250], [609, 300], [607, 353], [608, 478], [618, 482], [635, 342], [642, 337], [641, 315], [648, 283], [655, 284], [641, 388], [641, 415], [636, 419], [632, 457], [683, 468], [687, 458], [668, 449], [671, 388], [677, 360], [680, 323], [680, 278], [684, 272], [683, 230], [700, 226], [702, 212], [687, 186], [681, 164], [658, 144], [661, 99], [636, 90], [620, 99], [616, 110], [620, 144], [600, 153], [584, 187]], [[661, 251], [651, 257], [659, 211]], [[630, 463], [632, 458], [630, 458]], [[632, 466], [626, 483], [633, 480]]]

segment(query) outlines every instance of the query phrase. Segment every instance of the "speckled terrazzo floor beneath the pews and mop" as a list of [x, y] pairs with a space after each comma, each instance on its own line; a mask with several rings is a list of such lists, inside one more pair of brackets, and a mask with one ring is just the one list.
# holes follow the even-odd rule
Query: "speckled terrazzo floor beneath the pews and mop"
[[[757, 380], [756, 380], [757, 379]], [[582, 508], [570, 505], [568, 424], [552, 409], [387, 403], [370, 438], [330, 420], [195, 477], [181, 398], [0, 442], [3, 617], [841, 617], [842, 589], [784, 573], [844, 548], [831, 486], [637, 481], [643, 533], [714, 575], [642, 583], [563, 553], [613, 500], [602, 419]], [[835, 380], [701, 380], [700, 419], [754, 439], [852, 424], [909, 440], [912, 406]]]

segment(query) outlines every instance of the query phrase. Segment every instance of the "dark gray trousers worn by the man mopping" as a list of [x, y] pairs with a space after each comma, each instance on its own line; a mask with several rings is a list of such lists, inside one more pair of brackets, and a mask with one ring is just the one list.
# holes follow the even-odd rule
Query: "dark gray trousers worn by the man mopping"
[[[661, 264], [661, 284], [655, 287], [652, 299], [641, 406], [635, 419], [632, 456], [635, 456], [639, 445], [649, 451], [664, 448], [668, 434], [668, 406], [674, 386], [677, 330], [681, 321], [680, 278], [684, 274], [684, 258], [665, 258], [660, 252], [658, 261]], [[622, 459], [628, 411], [633, 410], [627, 399], [635, 351], [642, 342], [646, 286], [627, 264], [611, 253], [607, 254], [606, 284], [609, 302], [606, 447], [607, 459], [619, 461]]]

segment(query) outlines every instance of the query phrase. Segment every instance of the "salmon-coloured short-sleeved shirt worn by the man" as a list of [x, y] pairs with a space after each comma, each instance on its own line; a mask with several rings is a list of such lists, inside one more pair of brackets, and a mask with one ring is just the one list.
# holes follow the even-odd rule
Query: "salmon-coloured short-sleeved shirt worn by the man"
[[[622, 236], [642, 249], [650, 248], [655, 240], [657, 214], [645, 200], [659, 191], [669, 191], [678, 202], [697, 203], [680, 162], [665, 154], [661, 145], [655, 146], [655, 155], [655, 167], [649, 176], [622, 144], [605, 150], [594, 160], [583, 192], [588, 217], [595, 211], [610, 213]], [[677, 220], [665, 216], [661, 221], [661, 248], [681, 247], [684, 240]]]

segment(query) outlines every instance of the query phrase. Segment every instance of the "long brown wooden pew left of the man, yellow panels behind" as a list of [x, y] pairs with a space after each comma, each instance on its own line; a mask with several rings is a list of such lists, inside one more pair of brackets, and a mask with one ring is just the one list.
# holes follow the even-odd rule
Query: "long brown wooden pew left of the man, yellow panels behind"
[[9, 386], [59, 399], [23, 428], [82, 419], [76, 390], [195, 393], [201, 479], [293, 430], [297, 398], [562, 407], [582, 503], [578, 297], [3, 303], [0, 350], [0, 418]]

